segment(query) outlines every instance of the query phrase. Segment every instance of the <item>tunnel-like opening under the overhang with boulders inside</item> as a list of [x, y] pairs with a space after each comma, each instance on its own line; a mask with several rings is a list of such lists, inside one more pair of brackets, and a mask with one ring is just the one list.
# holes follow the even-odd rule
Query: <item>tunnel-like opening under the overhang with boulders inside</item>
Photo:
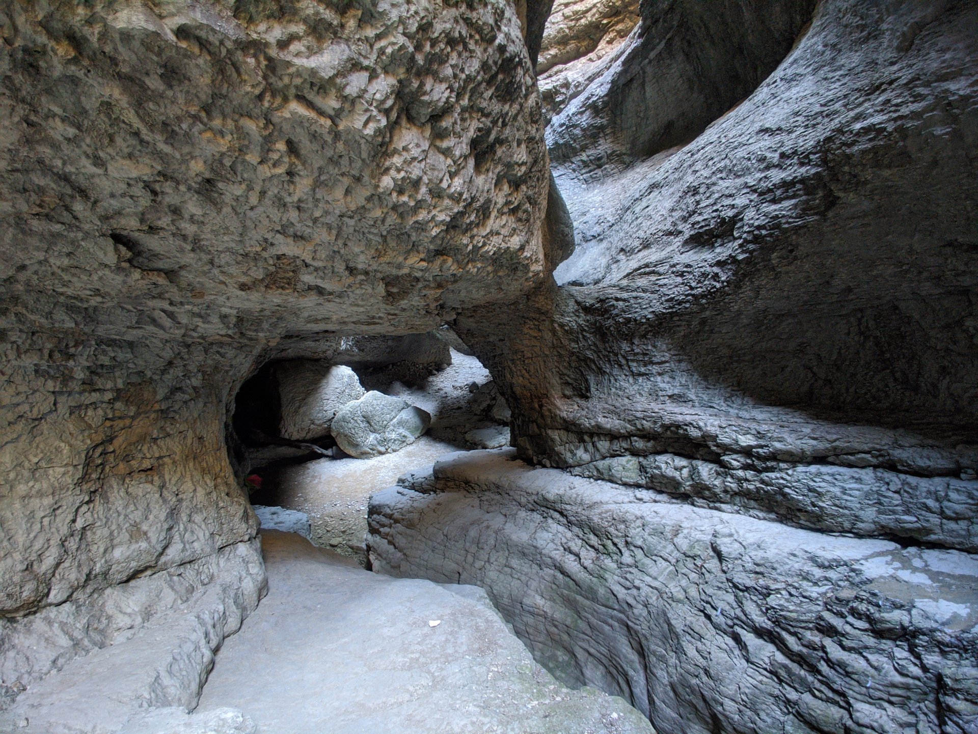
[[[447, 453], [510, 440], [510, 410], [460, 340], [367, 338], [366, 350], [260, 367], [238, 392], [229, 437], [264, 529], [297, 532], [364, 567], [372, 493]], [[384, 423], [399, 410], [421, 420], [408, 430]], [[363, 425], [347, 419], [337, 441], [333, 419], [353, 413]]]

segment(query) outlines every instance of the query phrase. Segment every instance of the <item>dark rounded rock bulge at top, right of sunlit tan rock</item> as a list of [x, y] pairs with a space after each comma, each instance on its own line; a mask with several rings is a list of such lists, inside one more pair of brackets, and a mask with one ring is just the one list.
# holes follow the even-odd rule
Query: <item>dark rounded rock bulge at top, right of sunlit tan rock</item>
[[[815, 6], [815, 0], [646, 0], [628, 44], [597, 63], [578, 64], [565, 89], [557, 82], [551, 105], [558, 113], [547, 136], [555, 162], [600, 178], [688, 143], [775, 70]], [[608, 33], [610, 52], [634, 25], [635, 12], [635, 4], [620, 0], [600, 3], [587, 15], [617, 15], [587, 24]]]

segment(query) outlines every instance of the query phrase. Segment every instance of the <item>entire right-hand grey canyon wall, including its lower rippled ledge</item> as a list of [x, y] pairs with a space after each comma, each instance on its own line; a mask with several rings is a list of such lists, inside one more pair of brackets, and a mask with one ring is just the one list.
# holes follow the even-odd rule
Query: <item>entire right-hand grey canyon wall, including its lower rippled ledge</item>
[[515, 457], [375, 497], [374, 566], [666, 734], [972, 732], [978, 8], [640, 10], [548, 128], [556, 283], [454, 324]]

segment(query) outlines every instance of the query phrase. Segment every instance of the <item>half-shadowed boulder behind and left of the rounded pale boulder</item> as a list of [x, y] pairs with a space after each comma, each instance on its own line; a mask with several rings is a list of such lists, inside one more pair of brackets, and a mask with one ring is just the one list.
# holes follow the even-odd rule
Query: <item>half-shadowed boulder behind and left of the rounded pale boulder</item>
[[283, 363], [275, 372], [282, 407], [279, 430], [292, 441], [328, 435], [336, 411], [365, 393], [350, 367], [299, 360]]

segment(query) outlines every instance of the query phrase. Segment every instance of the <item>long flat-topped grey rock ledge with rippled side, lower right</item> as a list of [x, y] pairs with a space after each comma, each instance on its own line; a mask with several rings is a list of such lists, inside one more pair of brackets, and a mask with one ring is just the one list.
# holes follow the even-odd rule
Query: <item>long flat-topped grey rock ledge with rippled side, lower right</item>
[[372, 498], [395, 576], [485, 588], [537, 660], [663, 734], [978, 725], [978, 561], [460, 453]]

